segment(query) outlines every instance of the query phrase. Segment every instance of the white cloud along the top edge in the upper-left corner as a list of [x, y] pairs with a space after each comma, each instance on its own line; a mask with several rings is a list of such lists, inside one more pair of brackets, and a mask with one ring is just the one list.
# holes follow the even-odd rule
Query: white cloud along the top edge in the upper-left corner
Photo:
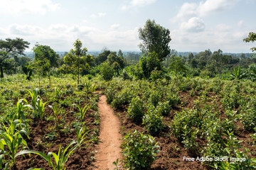
[[0, 9], [11, 14], [20, 12], [33, 12], [45, 14], [47, 11], [56, 11], [59, 4], [51, 0], [0, 0]]

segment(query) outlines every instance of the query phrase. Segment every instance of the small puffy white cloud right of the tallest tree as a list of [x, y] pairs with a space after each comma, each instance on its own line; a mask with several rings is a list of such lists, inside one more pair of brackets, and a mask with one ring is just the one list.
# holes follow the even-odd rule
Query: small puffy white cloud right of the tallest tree
[[188, 22], [181, 23], [181, 29], [188, 32], [202, 32], [205, 30], [205, 24], [201, 18], [193, 17], [188, 20]]

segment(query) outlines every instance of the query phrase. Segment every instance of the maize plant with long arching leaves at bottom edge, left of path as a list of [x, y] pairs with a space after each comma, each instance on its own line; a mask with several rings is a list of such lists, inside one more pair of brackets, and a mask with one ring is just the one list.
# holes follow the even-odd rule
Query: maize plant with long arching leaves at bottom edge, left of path
[[[68, 157], [79, 146], [78, 144], [75, 144], [75, 143], [76, 143], [75, 141], [70, 142], [70, 144], [67, 147], [65, 147], [63, 152], [61, 152], [61, 146], [60, 146], [60, 148], [58, 150], [58, 154], [55, 154], [54, 152], [48, 152], [48, 154], [44, 154], [43, 152], [38, 152], [38, 151], [34, 151], [34, 150], [23, 150], [21, 152], [18, 152], [15, 155], [15, 158], [18, 157], [19, 155], [23, 155], [23, 154], [38, 154], [46, 162], [48, 162], [49, 167], [52, 168], [53, 170], [65, 170], [66, 168], [64, 167], [64, 165], [68, 161]], [[71, 147], [71, 145], [74, 145], [74, 146]], [[71, 147], [71, 149], [69, 149], [70, 147]], [[68, 149], [69, 149], [69, 151], [68, 151]], [[51, 155], [53, 155], [55, 164], [50, 159]]]

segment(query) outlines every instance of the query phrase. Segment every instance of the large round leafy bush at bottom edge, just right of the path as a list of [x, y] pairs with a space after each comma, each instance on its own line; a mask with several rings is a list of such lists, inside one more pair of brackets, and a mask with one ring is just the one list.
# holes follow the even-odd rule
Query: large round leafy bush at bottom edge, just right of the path
[[159, 146], [150, 135], [134, 130], [124, 135], [124, 162], [129, 169], [147, 169], [156, 159]]

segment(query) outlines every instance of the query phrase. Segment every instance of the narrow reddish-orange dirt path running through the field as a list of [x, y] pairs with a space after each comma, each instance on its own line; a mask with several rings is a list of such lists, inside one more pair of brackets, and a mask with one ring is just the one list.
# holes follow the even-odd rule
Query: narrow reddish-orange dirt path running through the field
[[100, 113], [100, 143], [96, 147], [95, 169], [112, 170], [114, 169], [112, 162], [122, 157], [122, 149], [119, 147], [122, 138], [119, 134], [120, 123], [117, 116], [114, 115], [113, 109], [107, 105], [105, 95], [100, 96], [98, 108]]

